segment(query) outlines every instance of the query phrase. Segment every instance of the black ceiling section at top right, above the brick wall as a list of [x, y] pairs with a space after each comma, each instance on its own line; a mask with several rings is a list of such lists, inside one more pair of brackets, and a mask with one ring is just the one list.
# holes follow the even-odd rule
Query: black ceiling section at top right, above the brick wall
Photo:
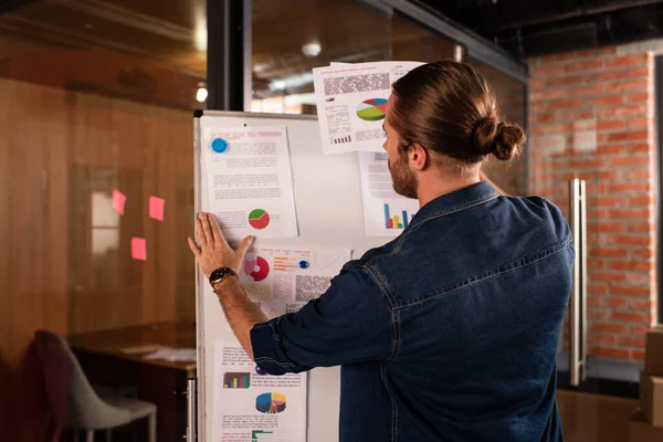
[[663, 38], [663, 0], [411, 0], [518, 59]]

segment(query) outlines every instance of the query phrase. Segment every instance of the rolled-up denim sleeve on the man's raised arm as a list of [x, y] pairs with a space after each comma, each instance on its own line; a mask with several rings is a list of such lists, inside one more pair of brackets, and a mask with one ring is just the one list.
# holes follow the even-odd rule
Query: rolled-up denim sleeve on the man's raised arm
[[327, 292], [299, 312], [251, 330], [255, 362], [271, 375], [387, 360], [393, 339], [387, 296], [357, 263], [346, 264]]

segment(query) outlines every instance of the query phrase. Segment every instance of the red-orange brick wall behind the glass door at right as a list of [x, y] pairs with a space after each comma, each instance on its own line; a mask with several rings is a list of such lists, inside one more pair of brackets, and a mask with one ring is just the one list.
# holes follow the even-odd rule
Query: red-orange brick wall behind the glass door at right
[[623, 45], [529, 61], [529, 192], [568, 215], [568, 180], [587, 180], [589, 354], [629, 360], [656, 319], [653, 60]]

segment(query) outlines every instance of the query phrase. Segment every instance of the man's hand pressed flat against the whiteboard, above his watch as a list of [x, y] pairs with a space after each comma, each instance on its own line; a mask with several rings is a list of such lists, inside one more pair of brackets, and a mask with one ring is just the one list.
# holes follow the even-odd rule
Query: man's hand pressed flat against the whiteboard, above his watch
[[246, 236], [240, 242], [238, 250], [233, 250], [223, 233], [217, 219], [211, 213], [200, 213], [196, 220], [196, 238], [198, 244], [189, 236], [189, 248], [198, 259], [198, 264], [206, 277], [220, 267], [230, 267], [238, 274], [242, 270], [244, 256], [253, 243], [253, 236]]

